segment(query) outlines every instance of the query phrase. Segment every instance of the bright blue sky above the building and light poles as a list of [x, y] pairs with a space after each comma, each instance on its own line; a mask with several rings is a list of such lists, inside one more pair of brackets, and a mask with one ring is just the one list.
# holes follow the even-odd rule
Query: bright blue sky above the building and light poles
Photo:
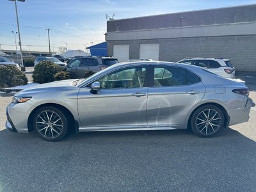
[[[17, 7], [23, 49], [28, 50], [26, 45], [31, 45], [31, 51], [48, 51], [46, 28], [51, 28], [51, 46], [58, 51], [58, 47], [65, 46], [61, 41], [67, 42], [68, 49], [84, 49], [84, 44], [103, 42], [106, 14], [115, 13], [114, 19], [125, 19], [253, 3], [256, 0], [26, 0], [17, 1]], [[0, 0], [0, 10], [1, 49], [14, 50], [12, 31], [17, 31], [14, 2]]]

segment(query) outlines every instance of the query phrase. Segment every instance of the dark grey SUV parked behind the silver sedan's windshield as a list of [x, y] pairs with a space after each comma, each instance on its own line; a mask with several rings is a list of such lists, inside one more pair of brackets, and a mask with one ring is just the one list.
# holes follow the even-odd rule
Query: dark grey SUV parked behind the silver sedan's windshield
[[118, 63], [116, 58], [81, 56], [71, 60], [66, 68], [72, 74], [72, 78], [84, 78], [85, 72], [88, 70], [99, 72], [115, 63]]

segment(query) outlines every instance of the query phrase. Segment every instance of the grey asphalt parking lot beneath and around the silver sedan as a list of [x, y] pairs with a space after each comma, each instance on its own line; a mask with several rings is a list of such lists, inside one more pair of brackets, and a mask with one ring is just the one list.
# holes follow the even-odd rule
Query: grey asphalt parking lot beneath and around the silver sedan
[[[256, 92], [250, 98], [255, 102]], [[0, 100], [0, 191], [256, 189], [254, 105], [249, 122], [215, 138], [181, 130], [83, 132], [51, 143], [35, 132], [7, 131], [12, 94], [0, 93]]]

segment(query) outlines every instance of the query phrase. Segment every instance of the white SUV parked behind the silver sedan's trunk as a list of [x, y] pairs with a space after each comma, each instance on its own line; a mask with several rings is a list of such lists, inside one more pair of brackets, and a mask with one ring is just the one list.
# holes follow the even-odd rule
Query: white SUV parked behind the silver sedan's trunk
[[223, 58], [185, 58], [178, 63], [196, 65], [225, 78], [234, 78], [236, 73], [230, 60]]

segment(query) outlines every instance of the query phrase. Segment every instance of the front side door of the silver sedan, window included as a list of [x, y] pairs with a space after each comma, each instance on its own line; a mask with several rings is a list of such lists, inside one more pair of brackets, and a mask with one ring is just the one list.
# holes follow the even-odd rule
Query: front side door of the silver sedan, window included
[[82, 87], [78, 112], [83, 129], [147, 125], [147, 76], [148, 66], [126, 67], [96, 79], [100, 83], [97, 93], [90, 92], [90, 84]]

